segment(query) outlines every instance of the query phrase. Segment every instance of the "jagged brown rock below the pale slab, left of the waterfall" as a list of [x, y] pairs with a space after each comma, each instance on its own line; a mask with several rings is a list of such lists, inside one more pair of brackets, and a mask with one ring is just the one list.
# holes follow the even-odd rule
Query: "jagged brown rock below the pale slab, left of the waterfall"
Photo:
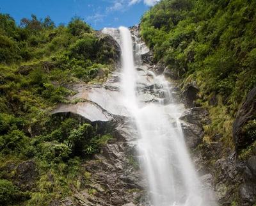
[[53, 200], [52, 206], [132, 205], [143, 201], [147, 184], [141, 178], [137, 162], [134, 145], [137, 133], [131, 127], [132, 119], [114, 115], [109, 123], [113, 124], [111, 131], [115, 139], [109, 141], [100, 154], [81, 165], [81, 170], [86, 171], [79, 177], [81, 187], [72, 189], [72, 196], [65, 200]]

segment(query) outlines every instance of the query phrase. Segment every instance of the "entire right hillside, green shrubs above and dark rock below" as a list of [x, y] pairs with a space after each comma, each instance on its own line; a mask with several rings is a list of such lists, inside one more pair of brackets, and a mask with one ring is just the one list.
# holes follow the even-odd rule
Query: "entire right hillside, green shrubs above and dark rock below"
[[221, 205], [254, 205], [256, 1], [163, 0], [143, 15], [140, 31], [187, 106], [209, 111], [192, 152]]

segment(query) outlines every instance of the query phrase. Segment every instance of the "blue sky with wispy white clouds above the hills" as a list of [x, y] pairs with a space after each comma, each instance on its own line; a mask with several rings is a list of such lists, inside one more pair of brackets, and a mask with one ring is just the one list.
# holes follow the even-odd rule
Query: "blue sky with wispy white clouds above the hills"
[[0, 0], [0, 12], [9, 13], [19, 24], [23, 17], [49, 15], [58, 25], [74, 16], [83, 18], [95, 29], [132, 26], [159, 0]]

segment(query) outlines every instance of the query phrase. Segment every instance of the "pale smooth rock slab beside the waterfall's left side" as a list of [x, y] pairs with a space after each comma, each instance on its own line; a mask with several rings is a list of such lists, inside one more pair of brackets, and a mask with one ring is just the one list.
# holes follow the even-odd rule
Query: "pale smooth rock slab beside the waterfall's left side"
[[[114, 77], [115, 78], [115, 77]], [[77, 94], [70, 100], [78, 99], [77, 104], [60, 104], [52, 111], [57, 113], [74, 113], [88, 119], [89, 122], [109, 122], [113, 116], [127, 116], [127, 110], [118, 99], [118, 90], [114, 79], [104, 85], [77, 84], [73, 89]]]

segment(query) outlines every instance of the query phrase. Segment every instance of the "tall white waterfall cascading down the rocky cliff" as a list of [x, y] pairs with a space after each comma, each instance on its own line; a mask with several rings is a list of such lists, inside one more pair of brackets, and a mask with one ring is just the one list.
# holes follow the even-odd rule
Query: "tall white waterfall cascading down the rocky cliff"
[[134, 119], [140, 167], [148, 182], [149, 204], [154, 206], [213, 206], [211, 191], [196, 173], [184, 141], [179, 117], [184, 111], [172, 97], [172, 85], [141, 61], [148, 48], [138, 31], [105, 28], [122, 50], [120, 104]]

